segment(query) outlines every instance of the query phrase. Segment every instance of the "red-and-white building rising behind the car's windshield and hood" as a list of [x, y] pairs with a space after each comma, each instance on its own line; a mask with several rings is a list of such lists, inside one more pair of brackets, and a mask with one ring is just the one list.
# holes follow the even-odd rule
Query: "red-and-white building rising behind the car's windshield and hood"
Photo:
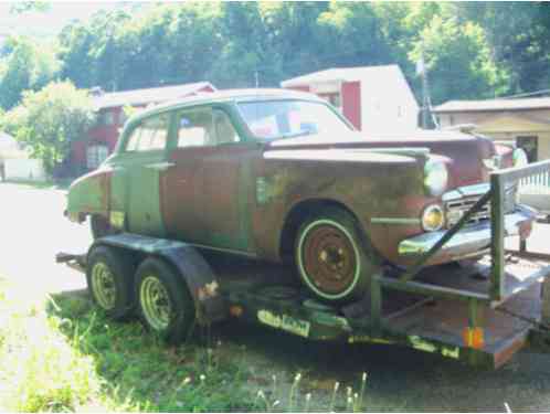
[[284, 81], [281, 86], [327, 99], [364, 132], [417, 127], [419, 105], [398, 65], [335, 67]]

